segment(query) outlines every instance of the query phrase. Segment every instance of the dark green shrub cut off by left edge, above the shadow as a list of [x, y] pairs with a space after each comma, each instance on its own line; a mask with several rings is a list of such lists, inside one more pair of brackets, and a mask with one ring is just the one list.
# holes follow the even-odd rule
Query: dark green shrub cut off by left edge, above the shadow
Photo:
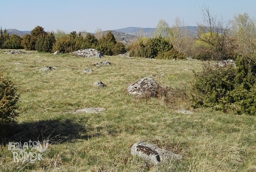
[[17, 102], [20, 95], [17, 87], [9, 80], [4, 73], [0, 72], [0, 125], [14, 122], [18, 116]]

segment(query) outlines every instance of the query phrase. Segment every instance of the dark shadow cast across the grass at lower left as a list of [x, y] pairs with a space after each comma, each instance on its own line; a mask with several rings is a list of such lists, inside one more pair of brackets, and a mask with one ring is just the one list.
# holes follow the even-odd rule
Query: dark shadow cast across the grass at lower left
[[29, 123], [15, 123], [0, 127], [0, 144], [8, 142], [24, 142], [49, 140], [49, 143], [70, 142], [74, 139], [90, 139], [98, 134], [91, 134], [91, 127], [81, 123], [66, 120], [44, 120]]

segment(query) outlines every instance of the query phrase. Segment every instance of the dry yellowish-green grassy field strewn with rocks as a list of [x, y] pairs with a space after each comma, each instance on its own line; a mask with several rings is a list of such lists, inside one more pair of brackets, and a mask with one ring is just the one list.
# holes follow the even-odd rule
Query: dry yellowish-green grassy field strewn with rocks
[[[109, 61], [111, 65], [93, 66], [99, 61]], [[30, 51], [25, 55], [0, 52], [0, 65], [21, 92], [18, 124], [0, 145], [0, 171], [256, 171], [255, 116], [192, 109], [188, 100], [169, 104], [162, 98], [134, 98], [126, 92], [130, 84], [154, 74], [161, 86], [183, 89], [189, 94], [192, 70], [202, 70], [200, 61], [84, 59]], [[39, 69], [45, 66], [58, 69], [42, 74]], [[83, 74], [85, 68], [94, 72]], [[97, 80], [106, 87], [92, 87]], [[70, 112], [89, 107], [106, 111]], [[182, 114], [177, 109], [193, 113]], [[44, 160], [35, 164], [13, 162], [9, 141], [47, 138], [50, 145]], [[149, 168], [143, 160], [130, 155], [130, 147], [140, 140], [168, 147], [183, 158]]]

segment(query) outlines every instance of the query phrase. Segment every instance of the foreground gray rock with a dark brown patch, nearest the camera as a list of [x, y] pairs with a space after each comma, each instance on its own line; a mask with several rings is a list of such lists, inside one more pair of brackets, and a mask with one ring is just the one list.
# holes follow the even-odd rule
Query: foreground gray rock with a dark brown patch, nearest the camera
[[143, 141], [134, 143], [131, 148], [131, 154], [144, 159], [150, 165], [157, 165], [167, 160], [180, 160], [182, 158], [179, 154]]

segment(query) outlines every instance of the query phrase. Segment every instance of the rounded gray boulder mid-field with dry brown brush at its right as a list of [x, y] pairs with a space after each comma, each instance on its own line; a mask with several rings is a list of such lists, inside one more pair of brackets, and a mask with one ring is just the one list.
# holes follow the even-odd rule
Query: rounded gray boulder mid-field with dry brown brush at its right
[[158, 90], [158, 83], [150, 77], [142, 78], [127, 88], [129, 94], [138, 97], [156, 97]]

